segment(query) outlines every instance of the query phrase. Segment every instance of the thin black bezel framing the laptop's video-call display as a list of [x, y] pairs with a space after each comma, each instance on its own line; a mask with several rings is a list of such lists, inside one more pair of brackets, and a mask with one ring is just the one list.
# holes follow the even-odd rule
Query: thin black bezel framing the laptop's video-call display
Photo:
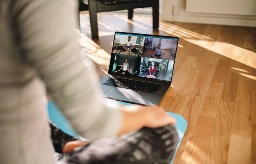
[[[131, 35], [143, 35], [143, 36], [148, 36], [148, 37], [161, 37], [161, 38], [174, 38], [177, 39], [177, 45], [176, 45], [176, 51], [175, 51], [175, 56], [174, 56], [174, 63], [173, 63], [173, 68], [172, 68], [172, 77], [173, 77], [173, 71], [174, 71], [174, 64], [175, 64], [175, 60], [176, 60], [176, 55], [177, 55], [177, 49], [178, 49], [178, 44], [179, 44], [179, 38], [178, 37], [174, 37], [174, 36], [163, 36], [163, 35], [150, 35], [150, 34], [141, 34], [141, 33], [126, 33], [126, 32], [115, 32], [116, 33], [120, 33], [120, 34], [131, 34]], [[114, 39], [115, 40], [115, 35], [114, 35]], [[113, 55], [112, 51], [113, 51], [113, 46], [114, 46], [114, 41], [113, 41], [113, 45], [112, 45], [112, 49], [111, 49], [111, 57], [110, 57], [110, 63], [109, 63], [109, 68], [108, 68], [108, 74], [110, 74], [111, 76], [118, 76], [118, 77], [123, 77], [123, 78], [136, 78], [136, 80], [140, 80], [140, 81], [152, 81], [152, 82], [157, 82], [157, 81], [163, 81], [163, 82], [167, 82], [167, 83], [172, 83], [172, 77], [171, 80], [161, 80], [161, 79], [154, 79], [154, 78], [146, 78], [146, 77], [142, 77], [142, 76], [131, 76], [131, 75], [125, 75], [125, 74], [118, 74], [118, 73], [113, 73], [113, 63], [115, 60], [115, 55]]]

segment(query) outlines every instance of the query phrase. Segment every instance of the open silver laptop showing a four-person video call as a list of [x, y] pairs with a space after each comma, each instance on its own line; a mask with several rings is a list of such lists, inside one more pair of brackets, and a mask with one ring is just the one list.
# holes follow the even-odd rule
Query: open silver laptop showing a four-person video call
[[172, 83], [179, 38], [115, 32], [108, 74], [100, 79], [106, 97], [158, 105]]

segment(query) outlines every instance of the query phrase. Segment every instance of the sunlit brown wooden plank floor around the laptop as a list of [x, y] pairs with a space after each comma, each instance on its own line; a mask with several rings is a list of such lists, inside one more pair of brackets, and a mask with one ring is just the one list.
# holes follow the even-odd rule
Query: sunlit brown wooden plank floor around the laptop
[[179, 37], [172, 85], [160, 106], [188, 123], [173, 164], [256, 163], [256, 28], [160, 22], [150, 16], [98, 14], [100, 37], [90, 40], [81, 14], [82, 44], [99, 76], [108, 71], [115, 31]]

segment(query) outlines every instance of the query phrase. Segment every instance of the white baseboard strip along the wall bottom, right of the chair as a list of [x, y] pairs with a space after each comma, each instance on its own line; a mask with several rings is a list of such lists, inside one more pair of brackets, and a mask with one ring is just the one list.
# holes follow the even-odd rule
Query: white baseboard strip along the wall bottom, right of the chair
[[245, 18], [225, 18], [214, 16], [197, 16], [197, 15], [160, 15], [160, 20], [185, 22], [185, 23], [203, 23], [203, 24], [215, 24], [215, 25], [237, 25], [237, 26], [249, 26], [256, 27], [255, 19]]

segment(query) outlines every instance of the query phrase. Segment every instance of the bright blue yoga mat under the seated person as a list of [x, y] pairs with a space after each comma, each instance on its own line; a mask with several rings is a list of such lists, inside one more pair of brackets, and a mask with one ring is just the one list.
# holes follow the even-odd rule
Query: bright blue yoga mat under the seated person
[[[123, 103], [124, 105], [132, 105], [131, 103], [124, 103], [124, 102], [121, 102], [121, 101], [118, 101], [118, 102]], [[48, 103], [47, 109], [48, 109], [49, 119], [59, 129], [61, 129], [62, 131], [64, 131], [65, 133], [67, 133], [71, 136], [82, 138], [72, 129], [72, 126], [69, 124], [69, 122], [67, 121], [65, 116], [61, 113], [61, 111], [54, 104], [53, 101], [50, 101]], [[180, 116], [179, 114], [174, 114], [174, 113], [170, 113], [170, 112], [166, 112], [166, 113], [169, 114], [170, 116], [173, 116], [177, 120], [177, 124], [175, 125], [175, 127], [176, 127], [178, 135], [179, 135], [179, 143], [178, 143], [177, 149], [176, 149], [175, 154], [174, 154], [174, 157], [175, 157], [175, 155], [177, 153], [177, 150], [179, 148], [179, 145], [180, 145], [180, 143], [182, 141], [182, 138], [185, 134], [185, 131], [187, 129], [187, 121], [182, 116]], [[172, 164], [173, 160], [174, 160], [174, 158], [172, 159], [170, 164]]]

